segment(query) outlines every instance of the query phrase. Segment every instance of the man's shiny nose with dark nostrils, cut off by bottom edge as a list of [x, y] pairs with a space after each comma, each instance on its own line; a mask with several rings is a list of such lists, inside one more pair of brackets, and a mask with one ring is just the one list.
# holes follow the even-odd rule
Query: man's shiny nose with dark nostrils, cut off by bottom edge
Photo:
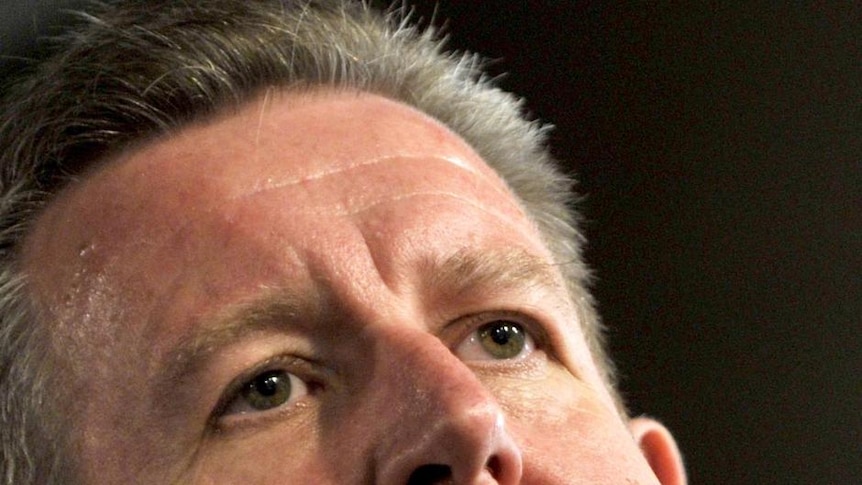
[[377, 349], [377, 483], [517, 484], [521, 452], [490, 391], [436, 337], [393, 333]]

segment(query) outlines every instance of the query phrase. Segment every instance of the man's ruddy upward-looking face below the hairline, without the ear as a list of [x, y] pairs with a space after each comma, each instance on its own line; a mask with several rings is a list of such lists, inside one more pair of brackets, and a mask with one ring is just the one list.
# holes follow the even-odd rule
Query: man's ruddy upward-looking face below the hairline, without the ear
[[274, 94], [131, 151], [24, 263], [92, 482], [656, 481], [523, 209], [398, 103]]

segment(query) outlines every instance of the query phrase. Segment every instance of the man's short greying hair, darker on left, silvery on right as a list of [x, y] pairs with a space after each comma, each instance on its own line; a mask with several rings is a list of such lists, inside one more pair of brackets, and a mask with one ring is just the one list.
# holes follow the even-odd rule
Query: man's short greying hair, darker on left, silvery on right
[[[3, 483], [63, 481], [62, 352], [27, 296], [19, 249], [70, 180], [135, 144], [238, 109], [266, 89], [357, 89], [447, 125], [520, 199], [566, 277], [593, 357], [613, 371], [586, 290], [572, 181], [546, 127], [433, 29], [350, 0], [132, 0], [81, 14], [57, 54], [9, 92], [0, 114], [0, 449]], [[66, 385], [65, 387], [68, 387]], [[71, 419], [71, 418], [69, 418]], [[65, 431], [64, 431], [65, 430]], [[46, 445], [56, 443], [55, 445]], [[65, 468], [70, 467], [70, 468]]]

